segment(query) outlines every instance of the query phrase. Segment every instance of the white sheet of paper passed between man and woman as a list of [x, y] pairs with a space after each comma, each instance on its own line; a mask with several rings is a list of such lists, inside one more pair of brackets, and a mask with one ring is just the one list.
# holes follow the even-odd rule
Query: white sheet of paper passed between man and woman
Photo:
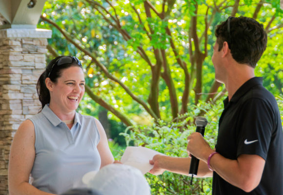
[[142, 174], [146, 174], [153, 167], [149, 164], [149, 160], [158, 154], [163, 155], [149, 148], [128, 146], [121, 157], [121, 163], [136, 167], [141, 170]]

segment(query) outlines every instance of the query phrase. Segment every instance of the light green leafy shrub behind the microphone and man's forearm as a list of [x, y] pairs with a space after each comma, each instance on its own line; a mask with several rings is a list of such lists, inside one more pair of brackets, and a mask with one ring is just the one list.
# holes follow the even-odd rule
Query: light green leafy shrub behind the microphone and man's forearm
[[[197, 106], [190, 105], [189, 112], [179, 116], [172, 122], [158, 121], [153, 126], [139, 125], [128, 127], [121, 133], [126, 142], [134, 141], [136, 146], [145, 146], [168, 156], [187, 157], [187, 137], [195, 132], [194, 119], [203, 111], [209, 124], [206, 126], [204, 138], [213, 148], [217, 137], [218, 120], [222, 113], [222, 102], [216, 104], [200, 102]], [[129, 134], [129, 132], [131, 132]], [[146, 175], [152, 195], [210, 195], [211, 178], [194, 178], [190, 185], [189, 176], [169, 172], [161, 176]]]

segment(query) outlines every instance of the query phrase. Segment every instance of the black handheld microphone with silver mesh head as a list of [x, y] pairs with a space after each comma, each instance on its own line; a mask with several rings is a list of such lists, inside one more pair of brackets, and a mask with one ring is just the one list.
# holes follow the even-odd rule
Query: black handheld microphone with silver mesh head
[[[204, 129], [205, 129], [205, 126], [207, 125], [206, 118], [197, 117], [196, 118], [196, 125], [197, 125], [196, 132], [199, 132], [199, 133], [202, 134], [202, 136], [204, 136]], [[192, 156], [191, 164], [190, 164], [190, 170], [189, 170], [189, 174], [192, 175], [191, 185], [192, 185], [192, 182], [193, 182], [193, 176], [197, 176], [197, 174], [198, 174], [199, 162], [200, 162], [200, 160], [198, 158], [196, 158], [195, 156]]]

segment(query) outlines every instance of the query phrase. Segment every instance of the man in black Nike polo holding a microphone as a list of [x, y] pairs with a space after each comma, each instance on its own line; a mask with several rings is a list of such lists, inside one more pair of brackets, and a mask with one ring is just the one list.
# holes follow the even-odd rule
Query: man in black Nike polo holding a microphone
[[[213, 195], [283, 195], [283, 130], [277, 102], [254, 68], [267, 42], [256, 20], [229, 17], [217, 26], [212, 62], [228, 97], [215, 151], [200, 133], [187, 152], [200, 159], [198, 176], [213, 176]], [[190, 158], [154, 156], [150, 173], [188, 175]]]

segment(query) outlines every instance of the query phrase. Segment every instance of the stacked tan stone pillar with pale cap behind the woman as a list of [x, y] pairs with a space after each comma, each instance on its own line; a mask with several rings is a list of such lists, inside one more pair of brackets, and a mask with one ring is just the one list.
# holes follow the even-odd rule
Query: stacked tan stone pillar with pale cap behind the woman
[[43, 29], [0, 29], [0, 195], [8, 195], [8, 160], [20, 123], [39, 112], [36, 83], [46, 66]]

